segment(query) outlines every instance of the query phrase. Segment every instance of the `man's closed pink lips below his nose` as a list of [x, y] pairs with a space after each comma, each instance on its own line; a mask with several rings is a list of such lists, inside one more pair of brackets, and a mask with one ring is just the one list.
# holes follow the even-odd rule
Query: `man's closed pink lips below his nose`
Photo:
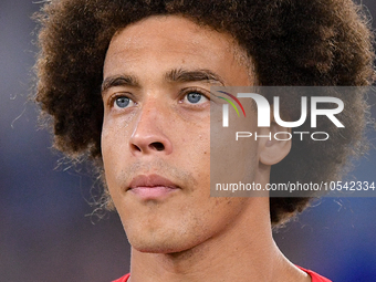
[[139, 175], [130, 181], [127, 190], [142, 199], [157, 199], [164, 198], [178, 189], [180, 188], [177, 185], [165, 177]]

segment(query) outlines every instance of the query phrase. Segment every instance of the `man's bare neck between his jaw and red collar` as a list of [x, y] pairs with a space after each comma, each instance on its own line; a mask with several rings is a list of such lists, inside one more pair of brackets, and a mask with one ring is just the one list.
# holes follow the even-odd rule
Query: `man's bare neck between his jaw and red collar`
[[250, 198], [249, 210], [227, 230], [188, 250], [145, 253], [132, 249], [129, 282], [310, 281], [275, 246], [269, 212], [254, 212], [265, 205], [269, 211], [268, 202], [268, 198]]

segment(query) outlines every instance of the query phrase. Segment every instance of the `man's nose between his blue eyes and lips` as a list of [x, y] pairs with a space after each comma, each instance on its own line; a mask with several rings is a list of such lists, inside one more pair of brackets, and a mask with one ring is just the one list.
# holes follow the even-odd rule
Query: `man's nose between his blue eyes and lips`
[[167, 136], [171, 116], [156, 103], [143, 106], [129, 139], [133, 155], [173, 153], [173, 143]]

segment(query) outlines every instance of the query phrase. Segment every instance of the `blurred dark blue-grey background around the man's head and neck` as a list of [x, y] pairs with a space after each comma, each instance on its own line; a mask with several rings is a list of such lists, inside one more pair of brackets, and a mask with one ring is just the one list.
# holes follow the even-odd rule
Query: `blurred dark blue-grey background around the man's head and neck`
[[[374, 0], [363, 3], [376, 14]], [[98, 184], [85, 165], [70, 168], [51, 148], [28, 102], [35, 55], [30, 17], [40, 7], [0, 1], [0, 282], [108, 282], [129, 270], [119, 219], [92, 215], [87, 201]], [[375, 133], [369, 137], [376, 145]], [[375, 173], [374, 148], [353, 175], [375, 181]], [[376, 281], [376, 198], [324, 198], [314, 206], [274, 234], [286, 257], [334, 282]]]

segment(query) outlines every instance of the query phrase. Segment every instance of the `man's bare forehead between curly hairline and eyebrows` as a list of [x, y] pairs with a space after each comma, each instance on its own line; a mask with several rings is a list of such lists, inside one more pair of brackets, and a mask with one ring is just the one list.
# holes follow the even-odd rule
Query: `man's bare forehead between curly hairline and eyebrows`
[[[119, 30], [107, 50], [104, 73], [142, 61], [163, 60], [195, 67], [246, 65], [246, 52], [228, 33], [201, 27], [180, 15], [154, 15]], [[119, 71], [119, 70], [117, 70]], [[243, 69], [244, 71], [244, 69]], [[226, 72], [226, 71], [224, 71]]]

